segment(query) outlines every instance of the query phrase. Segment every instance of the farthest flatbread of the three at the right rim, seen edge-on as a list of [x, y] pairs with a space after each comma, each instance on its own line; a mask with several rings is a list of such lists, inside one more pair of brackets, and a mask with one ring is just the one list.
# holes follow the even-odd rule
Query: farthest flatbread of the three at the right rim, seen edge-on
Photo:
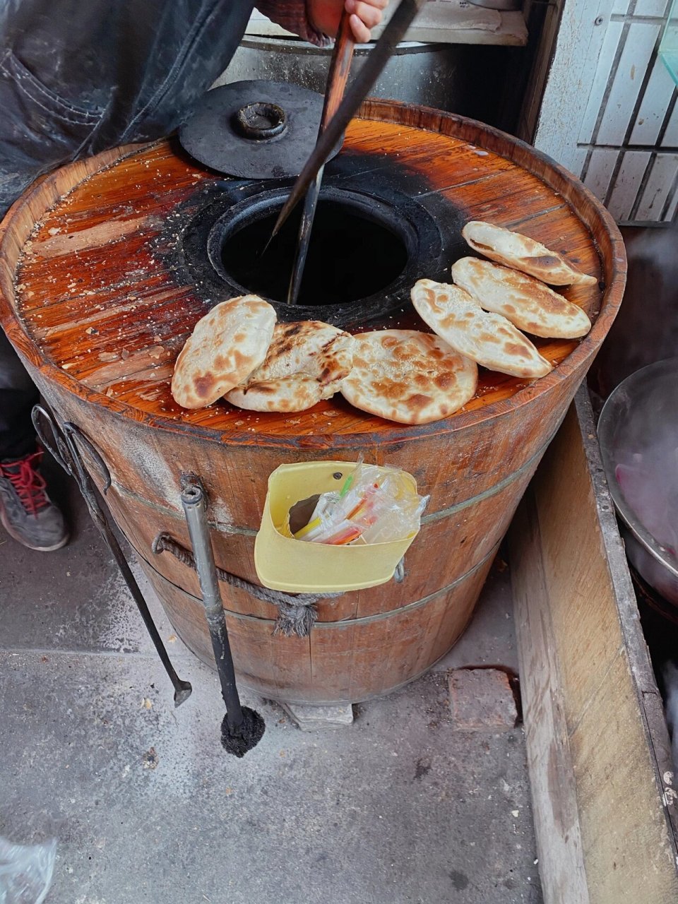
[[522, 270], [551, 286], [593, 286], [598, 282], [597, 278], [572, 266], [557, 251], [549, 250], [540, 241], [529, 239], [520, 232], [472, 220], [466, 223], [461, 234], [471, 248], [485, 258]]

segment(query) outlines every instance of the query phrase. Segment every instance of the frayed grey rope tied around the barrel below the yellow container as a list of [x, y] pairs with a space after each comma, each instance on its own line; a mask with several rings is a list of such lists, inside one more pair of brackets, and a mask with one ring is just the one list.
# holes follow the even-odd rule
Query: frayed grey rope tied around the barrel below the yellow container
[[[178, 559], [183, 565], [193, 571], [196, 570], [193, 553], [174, 541], [171, 534], [167, 532], [161, 532], [155, 537], [151, 551], [155, 555], [161, 552], [171, 552], [174, 558]], [[224, 571], [219, 567], [217, 567], [217, 577], [224, 583], [230, 584], [231, 587], [246, 590], [254, 598], [278, 607], [278, 618], [276, 619], [273, 633], [282, 634], [286, 637], [293, 635], [307, 637], [311, 633], [311, 628], [318, 617], [315, 604], [321, 599], [333, 599], [343, 596], [342, 593], [292, 594], [282, 593], [279, 590], [269, 590], [259, 584], [252, 584], [249, 580], [239, 578], [237, 575], [231, 574], [231, 571]]]

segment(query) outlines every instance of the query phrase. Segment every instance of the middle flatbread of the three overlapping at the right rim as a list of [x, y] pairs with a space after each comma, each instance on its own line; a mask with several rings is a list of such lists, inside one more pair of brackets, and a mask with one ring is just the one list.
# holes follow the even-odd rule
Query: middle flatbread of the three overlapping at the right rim
[[503, 314], [525, 333], [576, 339], [591, 328], [589, 317], [579, 306], [518, 270], [489, 260], [462, 258], [452, 265], [452, 278], [485, 311]]

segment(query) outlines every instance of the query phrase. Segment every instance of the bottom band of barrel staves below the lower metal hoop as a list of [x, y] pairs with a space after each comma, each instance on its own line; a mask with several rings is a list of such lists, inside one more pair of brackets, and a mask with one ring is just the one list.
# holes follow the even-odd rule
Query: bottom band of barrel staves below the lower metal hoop
[[[238, 680], [272, 700], [311, 706], [363, 702], [392, 692], [427, 672], [457, 642], [473, 615], [492, 563], [493, 556], [489, 555], [482, 567], [453, 589], [441, 589], [413, 610], [384, 613], [358, 625], [353, 620], [316, 623], [308, 637], [273, 636], [272, 621], [227, 612]], [[141, 567], [176, 634], [203, 663], [213, 666], [209, 635], [202, 628], [200, 601], [174, 587], [143, 560]], [[450, 612], [454, 612], [454, 618], [449, 617]], [[394, 640], [397, 622], [415, 634]], [[375, 626], [381, 645], [370, 646]], [[325, 636], [328, 631], [332, 632], [329, 644]], [[264, 655], [259, 655], [260, 648], [265, 649]], [[347, 689], [341, 687], [345, 680], [337, 677], [340, 671], [336, 660], [342, 657], [351, 663], [351, 669], [341, 672], [350, 673], [352, 684]], [[254, 673], [252, 664], [257, 662], [260, 665]], [[358, 671], [364, 663], [367, 674], [363, 679], [356, 674], [356, 663]], [[334, 693], [328, 692], [333, 686]]]

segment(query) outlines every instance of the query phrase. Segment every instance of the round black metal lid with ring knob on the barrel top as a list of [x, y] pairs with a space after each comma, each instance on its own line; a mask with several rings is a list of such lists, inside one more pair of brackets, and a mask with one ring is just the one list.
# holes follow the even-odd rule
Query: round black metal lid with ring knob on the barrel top
[[220, 173], [243, 179], [297, 176], [315, 147], [323, 100], [298, 85], [235, 81], [202, 96], [179, 129], [179, 141]]

